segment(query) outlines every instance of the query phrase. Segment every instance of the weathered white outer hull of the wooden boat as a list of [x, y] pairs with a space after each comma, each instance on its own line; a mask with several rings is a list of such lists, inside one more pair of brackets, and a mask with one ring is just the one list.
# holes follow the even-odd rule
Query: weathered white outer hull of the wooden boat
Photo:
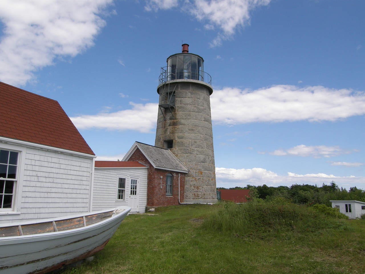
[[0, 274], [47, 273], [102, 250], [131, 210], [82, 228], [0, 238]]

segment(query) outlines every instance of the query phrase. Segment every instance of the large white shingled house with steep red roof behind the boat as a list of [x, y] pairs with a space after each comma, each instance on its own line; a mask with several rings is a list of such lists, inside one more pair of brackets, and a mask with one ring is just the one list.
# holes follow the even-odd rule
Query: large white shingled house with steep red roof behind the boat
[[95, 154], [55, 100], [0, 82], [0, 223], [92, 210]]

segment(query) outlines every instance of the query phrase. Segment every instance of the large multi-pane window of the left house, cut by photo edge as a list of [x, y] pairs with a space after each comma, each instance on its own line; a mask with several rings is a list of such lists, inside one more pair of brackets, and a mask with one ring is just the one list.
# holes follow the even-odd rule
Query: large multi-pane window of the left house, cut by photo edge
[[19, 152], [0, 149], [0, 211], [13, 208]]

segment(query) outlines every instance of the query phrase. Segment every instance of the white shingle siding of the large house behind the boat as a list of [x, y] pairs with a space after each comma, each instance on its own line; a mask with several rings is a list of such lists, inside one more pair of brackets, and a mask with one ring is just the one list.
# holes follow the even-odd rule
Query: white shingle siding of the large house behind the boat
[[[4, 147], [0, 144], [0, 147]], [[0, 214], [0, 223], [88, 212], [92, 157], [12, 145], [22, 150], [18, 180], [20, 214]]]

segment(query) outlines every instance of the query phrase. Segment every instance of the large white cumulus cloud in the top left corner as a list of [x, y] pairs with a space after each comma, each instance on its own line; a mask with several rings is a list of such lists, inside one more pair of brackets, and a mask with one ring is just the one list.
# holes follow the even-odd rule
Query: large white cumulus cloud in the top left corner
[[0, 80], [24, 85], [54, 58], [73, 57], [93, 46], [105, 25], [99, 14], [112, 1], [0, 1]]

